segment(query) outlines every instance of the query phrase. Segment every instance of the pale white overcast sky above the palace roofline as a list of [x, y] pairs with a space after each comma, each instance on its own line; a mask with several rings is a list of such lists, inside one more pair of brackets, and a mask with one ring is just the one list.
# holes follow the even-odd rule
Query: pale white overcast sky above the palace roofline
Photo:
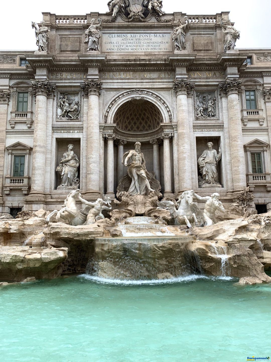
[[[108, 0], [8, 0], [1, 5], [0, 49], [36, 50], [31, 21], [40, 22], [42, 12], [57, 15], [83, 15], [90, 12], [105, 13]], [[271, 0], [163, 0], [166, 13], [181, 11], [188, 15], [211, 15], [230, 11], [241, 38], [237, 48], [271, 48]], [[142, 23], [142, 26], [144, 24]]]

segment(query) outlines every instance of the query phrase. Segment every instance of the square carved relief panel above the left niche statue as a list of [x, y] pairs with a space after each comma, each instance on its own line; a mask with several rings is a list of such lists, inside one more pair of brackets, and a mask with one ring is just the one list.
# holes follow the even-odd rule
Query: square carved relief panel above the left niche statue
[[81, 90], [57, 90], [56, 121], [81, 120]]

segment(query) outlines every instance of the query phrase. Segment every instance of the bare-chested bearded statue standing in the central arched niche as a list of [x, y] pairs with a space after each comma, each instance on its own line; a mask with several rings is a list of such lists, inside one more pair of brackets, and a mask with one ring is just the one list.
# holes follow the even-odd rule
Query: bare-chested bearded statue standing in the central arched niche
[[124, 153], [122, 157], [122, 164], [128, 166], [128, 175], [132, 178], [132, 183], [128, 190], [128, 194], [134, 195], [145, 195], [146, 186], [150, 192], [155, 191], [150, 186], [151, 175], [146, 169], [146, 161], [143, 153], [141, 152], [141, 143], [135, 143], [135, 150], [130, 150]]

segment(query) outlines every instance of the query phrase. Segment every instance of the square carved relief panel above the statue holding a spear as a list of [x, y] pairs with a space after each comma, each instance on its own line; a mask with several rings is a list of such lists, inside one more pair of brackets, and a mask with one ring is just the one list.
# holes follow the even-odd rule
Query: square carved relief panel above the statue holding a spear
[[195, 120], [219, 120], [218, 91], [195, 90], [194, 91]]

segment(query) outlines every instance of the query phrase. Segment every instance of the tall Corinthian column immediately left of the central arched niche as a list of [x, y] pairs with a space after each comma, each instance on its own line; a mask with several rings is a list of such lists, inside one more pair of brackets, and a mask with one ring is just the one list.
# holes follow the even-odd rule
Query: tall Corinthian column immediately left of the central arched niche
[[99, 96], [102, 83], [96, 80], [86, 81], [81, 85], [85, 97], [89, 97], [87, 113], [87, 157], [86, 174], [87, 185], [85, 195], [91, 199], [100, 195], [100, 131], [99, 131]]

